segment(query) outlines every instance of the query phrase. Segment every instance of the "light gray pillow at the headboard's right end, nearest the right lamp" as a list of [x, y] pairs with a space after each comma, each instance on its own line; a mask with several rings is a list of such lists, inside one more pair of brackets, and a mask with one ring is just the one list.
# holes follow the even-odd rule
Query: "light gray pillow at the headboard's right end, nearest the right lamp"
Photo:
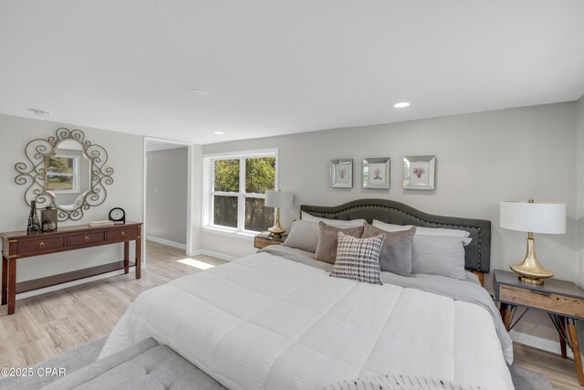
[[465, 237], [415, 235], [412, 272], [465, 280], [464, 246], [470, 242]]

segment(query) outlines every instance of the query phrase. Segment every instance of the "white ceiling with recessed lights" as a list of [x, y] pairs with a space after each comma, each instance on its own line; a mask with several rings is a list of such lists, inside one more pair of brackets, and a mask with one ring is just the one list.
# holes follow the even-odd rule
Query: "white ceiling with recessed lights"
[[577, 100], [582, 20], [581, 0], [2, 0], [0, 113], [211, 143]]

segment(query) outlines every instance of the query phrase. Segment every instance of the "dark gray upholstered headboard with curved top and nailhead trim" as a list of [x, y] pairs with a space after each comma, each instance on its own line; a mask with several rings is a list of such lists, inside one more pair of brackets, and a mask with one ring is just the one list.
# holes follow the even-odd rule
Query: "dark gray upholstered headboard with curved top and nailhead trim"
[[489, 272], [491, 261], [491, 221], [485, 219], [433, 216], [413, 207], [387, 199], [359, 199], [340, 206], [300, 206], [311, 216], [330, 219], [373, 219], [395, 225], [446, 227], [466, 230], [473, 238], [464, 254], [466, 269]]

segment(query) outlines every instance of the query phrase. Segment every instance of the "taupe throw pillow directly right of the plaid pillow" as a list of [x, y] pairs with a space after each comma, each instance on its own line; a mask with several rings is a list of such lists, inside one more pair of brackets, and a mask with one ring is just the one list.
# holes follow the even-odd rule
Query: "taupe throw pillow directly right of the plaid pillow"
[[412, 239], [415, 233], [415, 227], [388, 232], [366, 223], [361, 237], [368, 238], [385, 234], [380, 253], [381, 270], [402, 276], [412, 276]]

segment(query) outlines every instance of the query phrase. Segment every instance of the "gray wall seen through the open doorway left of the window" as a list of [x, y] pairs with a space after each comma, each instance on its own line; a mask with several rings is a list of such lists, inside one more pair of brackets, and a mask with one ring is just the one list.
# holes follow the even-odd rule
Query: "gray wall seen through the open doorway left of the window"
[[146, 235], [186, 245], [187, 147], [146, 153]]

